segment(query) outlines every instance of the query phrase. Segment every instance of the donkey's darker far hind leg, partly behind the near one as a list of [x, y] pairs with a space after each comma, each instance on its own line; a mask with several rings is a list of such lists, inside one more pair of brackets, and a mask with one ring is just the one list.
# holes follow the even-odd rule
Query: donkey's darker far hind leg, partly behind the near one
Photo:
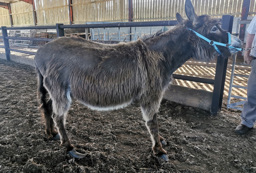
[[46, 104], [43, 104], [42, 108], [44, 110], [45, 117], [45, 131], [48, 137], [52, 136], [54, 140], [60, 139], [59, 133], [54, 128], [54, 122], [52, 118], [53, 108], [52, 99], [49, 99]]

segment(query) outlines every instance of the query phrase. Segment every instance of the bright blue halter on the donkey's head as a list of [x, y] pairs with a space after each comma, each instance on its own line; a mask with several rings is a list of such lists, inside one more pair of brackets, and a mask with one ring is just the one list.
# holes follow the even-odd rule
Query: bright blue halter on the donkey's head
[[220, 42], [215, 42], [215, 41], [209, 40], [208, 38], [204, 37], [203, 35], [199, 34], [198, 32], [196, 32], [196, 31], [194, 31], [194, 30], [192, 30], [192, 29], [189, 29], [189, 28], [188, 28], [188, 30], [193, 31], [198, 37], [200, 37], [201, 39], [207, 41], [207, 42], [208, 42], [210, 45], [212, 45], [212, 46], [216, 49], [216, 51], [217, 51], [219, 54], [221, 54], [221, 55], [223, 55], [223, 54], [221, 53], [221, 51], [219, 51], [219, 49], [218, 49], [218, 47], [217, 47], [216, 45], [225, 46], [225, 47], [233, 48], [233, 49], [237, 49], [236, 52], [242, 51], [242, 48], [236, 48], [236, 47], [231, 46], [231, 36], [230, 36], [230, 33], [229, 33], [229, 32], [227, 32], [227, 33], [228, 33], [228, 44], [224, 44], [224, 43], [220, 43]]

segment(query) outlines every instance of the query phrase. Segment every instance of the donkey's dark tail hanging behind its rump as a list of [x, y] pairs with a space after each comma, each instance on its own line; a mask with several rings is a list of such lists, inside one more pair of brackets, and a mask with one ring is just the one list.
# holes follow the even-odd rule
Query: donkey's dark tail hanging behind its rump
[[36, 67], [35, 68], [37, 70], [37, 74], [38, 74], [38, 90], [37, 90], [37, 96], [39, 97], [40, 93], [41, 93], [41, 98], [40, 98], [40, 103], [43, 103], [41, 107], [46, 107], [47, 103], [46, 103], [46, 94], [48, 93], [48, 91], [45, 89], [44, 87], [44, 77], [41, 74], [41, 72], [39, 71], [39, 69]]

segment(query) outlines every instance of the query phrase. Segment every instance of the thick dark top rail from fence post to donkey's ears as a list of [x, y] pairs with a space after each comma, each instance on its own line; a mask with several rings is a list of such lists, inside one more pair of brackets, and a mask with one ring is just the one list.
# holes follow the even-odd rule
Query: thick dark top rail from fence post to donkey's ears
[[177, 20], [163, 21], [132, 21], [124, 23], [104, 23], [104, 24], [83, 24], [83, 25], [62, 25], [61, 29], [67, 28], [119, 28], [119, 27], [146, 27], [146, 26], [174, 26]]

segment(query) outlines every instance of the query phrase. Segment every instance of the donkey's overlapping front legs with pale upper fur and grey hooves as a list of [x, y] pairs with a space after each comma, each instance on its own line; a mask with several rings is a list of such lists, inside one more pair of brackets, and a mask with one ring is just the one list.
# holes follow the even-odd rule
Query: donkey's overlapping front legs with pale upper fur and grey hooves
[[150, 133], [152, 142], [153, 142], [153, 147], [152, 150], [154, 152], [154, 154], [162, 159], [164, 159], [165, 161], [169, 161], [169, 158], [167, 156], [167, 152], [162, 148], [162, 144], [161, 144], [161, 140], [163, 140], [163, 138], [158, 134], [158, 124], [157, 124], [157, 115], [156, 113], [151, 114], [152, 116], [150, 116], [150, 111], [146, 111], [146, 109], [144, 109], [144, 107], [141, 107], [142, 109], [142, 114], [143, 114], [143, 118], [146, 121], [146, 127]]

